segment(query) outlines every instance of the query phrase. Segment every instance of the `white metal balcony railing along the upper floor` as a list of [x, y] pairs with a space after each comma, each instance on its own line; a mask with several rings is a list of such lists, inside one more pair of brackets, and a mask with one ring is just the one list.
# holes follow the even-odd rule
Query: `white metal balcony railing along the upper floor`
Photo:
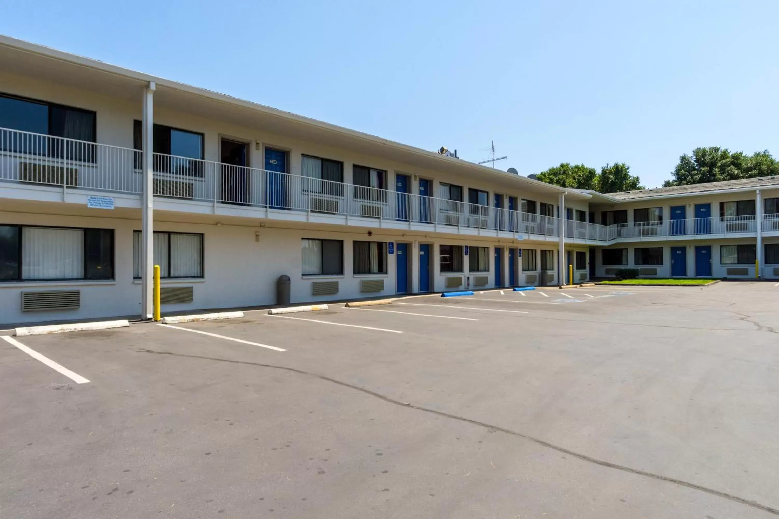
[[[0, 128], [0, 181], [43, 184], [65, 191], [108, 191], [140, 195], [143, 153], [135, 149], [62, 139]], [[154, 195], [223, 207], [263, 209], [274, 216], [306, 213], [381, 222], [428, 224], [544, 237], [559, 236], [559, 220], [527, 212], [443, 198], [368, 188], [209, 160], [153, 154]], [[565, 220], [566, 238], [610, 242], [620, 239], [756, 233], [755, 216], [664, 222], [596, 223]], [[779, 214], [764, 216], [763, 230], [779, 230]]]

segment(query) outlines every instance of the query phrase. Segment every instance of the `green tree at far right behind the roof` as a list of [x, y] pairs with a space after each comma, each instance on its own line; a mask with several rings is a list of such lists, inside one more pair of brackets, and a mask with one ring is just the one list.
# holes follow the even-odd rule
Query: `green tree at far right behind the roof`
[[693, 149], [691, 156], [686, 153], [680, 156], [679, 163], [671, 172], [673, 178], [665, 181], [663, 186], [706, 184], [776, 174], [779, 174], [779, 162], [767, 150], [749, 156], [743, 152], [731, 153], [727, 148], [710, 146]]

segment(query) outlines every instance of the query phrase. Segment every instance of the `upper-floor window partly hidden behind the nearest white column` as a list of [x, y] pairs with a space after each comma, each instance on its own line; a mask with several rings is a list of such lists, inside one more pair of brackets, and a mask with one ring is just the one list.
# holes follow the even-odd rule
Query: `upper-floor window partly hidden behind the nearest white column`
[[[188, 159], [203, 159], [203, 134], [154, 124], [153, 152], [154, 171], [186, 177], [203, 177], [203, 163]], [[143, 122], [134, 121], [132, 143], [135, 149], [143, 149]], [[139, 169], [140, 157], [136, 156], [136, 169]]]

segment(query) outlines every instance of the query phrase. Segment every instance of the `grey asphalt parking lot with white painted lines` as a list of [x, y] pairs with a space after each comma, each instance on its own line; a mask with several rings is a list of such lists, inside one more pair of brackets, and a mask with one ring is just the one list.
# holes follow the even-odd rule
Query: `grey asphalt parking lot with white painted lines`
[[775, 517], [779, 287], [0, 340], [0, 517]]

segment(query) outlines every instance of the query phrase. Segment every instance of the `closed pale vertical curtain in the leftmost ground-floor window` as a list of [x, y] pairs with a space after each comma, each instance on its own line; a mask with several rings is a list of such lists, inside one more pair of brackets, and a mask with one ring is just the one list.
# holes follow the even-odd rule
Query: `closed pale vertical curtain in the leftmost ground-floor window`
[[83, 279], [84, 232], [23, 227], [23, 279]]

